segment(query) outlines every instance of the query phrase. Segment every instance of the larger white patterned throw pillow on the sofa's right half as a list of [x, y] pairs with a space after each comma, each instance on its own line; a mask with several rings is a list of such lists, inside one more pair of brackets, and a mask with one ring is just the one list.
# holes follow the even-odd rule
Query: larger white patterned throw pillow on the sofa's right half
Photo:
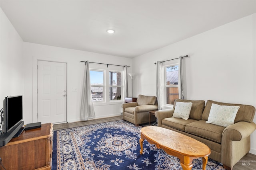
[[206, 123], [224, 127], [233, 125], [239, 108], [240, 106], [221, 106], [218, 104], [212, 104]]

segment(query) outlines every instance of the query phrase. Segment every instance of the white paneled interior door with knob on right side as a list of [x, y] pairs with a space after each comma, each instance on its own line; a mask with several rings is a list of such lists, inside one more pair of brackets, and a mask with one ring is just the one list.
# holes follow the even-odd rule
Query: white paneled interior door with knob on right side
[[67, 121], [67, 64], [38, 61], [37, 120]]

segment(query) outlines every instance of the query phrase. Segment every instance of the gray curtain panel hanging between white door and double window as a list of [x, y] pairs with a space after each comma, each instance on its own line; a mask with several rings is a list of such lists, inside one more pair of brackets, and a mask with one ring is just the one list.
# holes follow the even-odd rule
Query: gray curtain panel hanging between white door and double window
[[95, 118], [94, 107], [92, 103], [90, 69], [89, 69], [88, 61], [86, 61], [85, 68], [84, 68], [84, 80], [83, 80], [83, 86], [82, 86], [80, 118], [83, 121]]

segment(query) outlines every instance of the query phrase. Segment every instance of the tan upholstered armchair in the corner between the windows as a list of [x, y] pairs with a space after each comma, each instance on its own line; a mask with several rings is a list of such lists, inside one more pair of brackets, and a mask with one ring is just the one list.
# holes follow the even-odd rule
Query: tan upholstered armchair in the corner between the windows
[[[124, 103], [123, 119], [138, 126], [143, 123], [149, 122], [148, 111], [157, 110], [157, 98], [156, 96], [143, 96], [139, 95], [137, 102]], [[151, 117], [151, 121], [155, 121], [156, 117]]]

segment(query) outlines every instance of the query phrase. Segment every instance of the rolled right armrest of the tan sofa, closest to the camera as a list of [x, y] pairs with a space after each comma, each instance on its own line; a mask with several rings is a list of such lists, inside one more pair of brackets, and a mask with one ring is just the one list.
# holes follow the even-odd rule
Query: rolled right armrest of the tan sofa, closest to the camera
[[230, 125], [224, 129], [222, 132], [222, 142], [223, 140], [231, 141], [241, 141], [242, 139], [250, 136], [250, 134], [256, 129], [256, 124], [254, 122], [240, 121]]

